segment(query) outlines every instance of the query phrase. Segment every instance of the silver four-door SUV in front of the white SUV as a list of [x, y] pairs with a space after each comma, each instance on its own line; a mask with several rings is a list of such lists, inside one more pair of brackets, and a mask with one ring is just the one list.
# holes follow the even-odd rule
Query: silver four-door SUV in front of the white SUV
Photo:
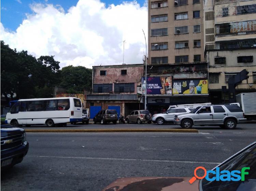
[[234, 129], [237, 123], [245, 120], [243, 110], [238, 105], [200, 106], [190, 113], [175, 116], [175, 124], [182, 128], [211, 125]]

